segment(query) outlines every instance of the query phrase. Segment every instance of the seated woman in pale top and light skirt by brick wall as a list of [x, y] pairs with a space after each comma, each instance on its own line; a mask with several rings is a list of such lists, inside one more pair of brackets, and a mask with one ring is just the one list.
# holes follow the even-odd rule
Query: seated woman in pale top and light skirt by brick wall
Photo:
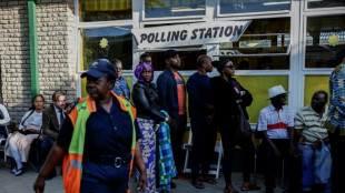
[[39, 136], [42, 125], [42, 111], [45, 108], [45, 98], [38, 94], [32, 100], [32, 110], [28, 111], [21, 119], [19, 131], [14, 132], [8, 139], [6, 155], [12, 156], [16, 161], [16, 167], [12, 173], [18, 176], [22, 174], [23, 164], [29, 158], [30, 144]]

